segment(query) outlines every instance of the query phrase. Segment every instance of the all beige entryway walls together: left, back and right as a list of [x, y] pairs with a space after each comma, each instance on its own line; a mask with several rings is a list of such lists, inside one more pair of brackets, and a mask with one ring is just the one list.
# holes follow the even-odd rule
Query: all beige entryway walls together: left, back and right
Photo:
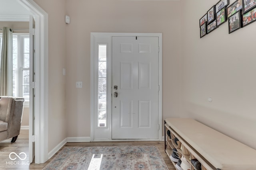
[[256, 149], [256, 23], [200, 39], [217, 1], [35, 0], [49, 14], [49, 150], [90, 136], [90, 32], [163, 33], [163, 119], [192, 117]]

